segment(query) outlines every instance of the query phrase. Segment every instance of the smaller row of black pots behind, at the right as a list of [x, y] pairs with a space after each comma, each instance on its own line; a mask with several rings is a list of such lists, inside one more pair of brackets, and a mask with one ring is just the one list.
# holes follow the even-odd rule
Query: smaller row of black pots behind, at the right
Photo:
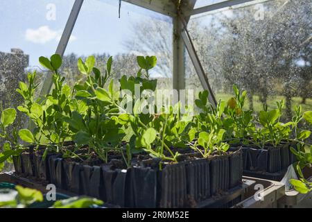
[[295, 155], [291, 152], [291, 146], [296, 147], [292, 143], [281, 143], [276, 147], [257, 148], [243, 145], [242, 147], [231, 147], [229, 150], [236, 151], [241, 148], [244, 171], [278, 173], [296, 161]]

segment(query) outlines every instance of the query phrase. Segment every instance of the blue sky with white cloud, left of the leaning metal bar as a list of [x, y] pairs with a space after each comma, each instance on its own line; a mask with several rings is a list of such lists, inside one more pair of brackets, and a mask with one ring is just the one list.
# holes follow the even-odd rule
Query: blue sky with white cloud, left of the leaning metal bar
[[73, 2], [1, 1], [0, 51], [10, 53], [11, 49], [21, 49], [29, 56], [27, 67], [37, 69], [40, 56], [51, 56], [55, 53]]

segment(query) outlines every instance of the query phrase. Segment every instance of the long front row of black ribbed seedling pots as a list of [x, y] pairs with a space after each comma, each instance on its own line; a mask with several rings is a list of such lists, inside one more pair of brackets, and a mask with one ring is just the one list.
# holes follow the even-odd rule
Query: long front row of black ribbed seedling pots
[[196, 207], [201, 200], [241, 185], [243, 152], [200, 159], [193, 155], [177, 164], [147, 160], [128, 169], [114, 162], [90, 166], [59, 155], [22, 153], [14, 157], [22, 176], [35, 176], [79, 195], [101, 198], [121, 207]]

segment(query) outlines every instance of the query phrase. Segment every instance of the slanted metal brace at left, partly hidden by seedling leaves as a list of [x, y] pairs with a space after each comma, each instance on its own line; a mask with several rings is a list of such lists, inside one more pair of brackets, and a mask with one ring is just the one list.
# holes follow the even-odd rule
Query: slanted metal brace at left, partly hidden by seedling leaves
[[[73, 8], [71, 9], [71, 14], [69, 15], [69, 18], [67, 20], [67, 24], [64, 28], [64, 31], [62, 33], [62, 37], [60, 39], [60, 42], [58, 44], [58, 48], [55, 51], [55, 54], [59, 54], [60, 56], [64, 55], [65, 49], [67, 47], [67, 44], [69, 42], [69, 38], [71, 37], [71, 32], [73, 31], [73, 26], [75, 26], [78, 14], [80, 12], [80, 8], [83, 6], [83, 0], [76, 0], [75, 3], [73, 3]], [[40, 95], [49, 94], [51, 87], [52, 87], [52, 74], [51, 72], [48, 72], [46, 74], [46, 79], [44, 80], [44, 83], [42, 85], [42, 89], [40, 92]]]

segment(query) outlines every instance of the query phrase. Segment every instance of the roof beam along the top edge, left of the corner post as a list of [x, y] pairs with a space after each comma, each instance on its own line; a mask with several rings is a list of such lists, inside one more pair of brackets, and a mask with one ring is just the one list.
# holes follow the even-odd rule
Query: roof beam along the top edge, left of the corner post
[[[132, 3], [135, 6], [140, 6], [155, 12], [159, 12], [162, 15], [175, 17], [177, 15], [177, 8], [175, 3], [168, 0], [122, 0], [128, 3]], [[121, 6], [122, 7], [122, 6]]]

